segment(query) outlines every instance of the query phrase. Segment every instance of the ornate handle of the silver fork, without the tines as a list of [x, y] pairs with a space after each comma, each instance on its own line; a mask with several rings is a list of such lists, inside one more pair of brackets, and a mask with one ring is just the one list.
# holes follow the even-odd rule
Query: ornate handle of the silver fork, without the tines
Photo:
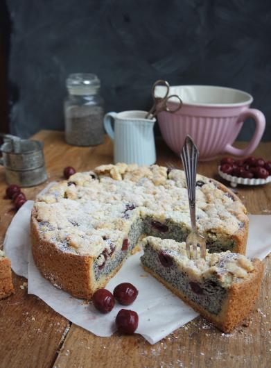
[[191, 228], [192, 231], [197, 231], [195, 223], [195, 182], [196, 172], [198, 166], [199, 152], [195, 146], [192, 138], [187, 135], [182, 147], [181, 158], [184, 165], [184, 172], [186, 176], [187, 192], [189, 196], [189, 209], [191, 215]]

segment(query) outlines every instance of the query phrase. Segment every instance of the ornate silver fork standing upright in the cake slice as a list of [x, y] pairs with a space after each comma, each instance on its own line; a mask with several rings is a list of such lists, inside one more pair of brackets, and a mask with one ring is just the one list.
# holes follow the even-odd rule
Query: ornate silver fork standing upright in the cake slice
[[[184, 165], [186, 176], [187, 192], [189, 196], [189, 209], [191, 217], [191, 233], [186, 237], [186, 253], [190, 259], [198, 258], [198, 246], [200, 246], [200, 257], [206, 256], [206, 242], [200, 233], [198, 233], [195, 222], [195, 183], [198, 165], [198, 149], [192, 138], [187, 135], [182, 147], [181, 158]], [[192, 248], [192, 249], [191, 249]]]

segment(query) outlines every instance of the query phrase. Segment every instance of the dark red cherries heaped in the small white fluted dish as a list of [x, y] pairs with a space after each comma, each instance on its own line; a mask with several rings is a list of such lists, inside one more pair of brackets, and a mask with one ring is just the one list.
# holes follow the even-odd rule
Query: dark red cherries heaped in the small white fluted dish
[[271, 175], [271, 161], [255, 157], [248, 157], [243, 160], [225, 157], [220, 161], [220, 171], [238, 178], [266, 179]]

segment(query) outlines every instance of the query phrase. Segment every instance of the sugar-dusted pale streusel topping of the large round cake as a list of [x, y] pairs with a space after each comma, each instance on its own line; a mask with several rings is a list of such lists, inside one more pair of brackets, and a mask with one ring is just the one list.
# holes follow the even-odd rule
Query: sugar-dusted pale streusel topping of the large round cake
[[[245, 207], [209, 178], [197, 180], [204, 183], [196, 187], [199, 231], [236, 233], [246, 219]], [[39, 196], [34, 208], [44, 240], [85, 256], [100, 255], [108, 239], [121, 246], [138, 217], [191, 226], [184, 172], [168, 174], [157, 165], [102, 165], [74, 174]]]

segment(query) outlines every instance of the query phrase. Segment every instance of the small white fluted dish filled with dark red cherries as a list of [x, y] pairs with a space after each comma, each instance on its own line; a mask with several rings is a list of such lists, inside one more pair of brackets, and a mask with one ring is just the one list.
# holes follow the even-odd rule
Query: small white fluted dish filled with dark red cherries
[[242, 185], [263, 185], [271, 182], [271, 161], [247, 157], [235, 160], [224, 157], [220, 160], [218, 174], [230, 182], [231, 187]]

